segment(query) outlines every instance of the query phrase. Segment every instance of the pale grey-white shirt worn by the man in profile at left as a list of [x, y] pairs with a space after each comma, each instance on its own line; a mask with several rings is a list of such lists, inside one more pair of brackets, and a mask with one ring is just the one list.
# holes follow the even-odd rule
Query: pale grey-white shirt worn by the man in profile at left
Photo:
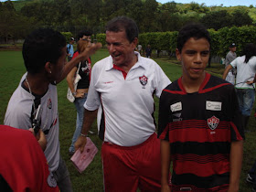
[[[31, 95], [22, 87], [27, 72], [20, 80], [16, 91], [14, 91], [5, 112], [5, 125], [18, 129], [29, 129], [32, 127], [31, 118], [34, 108], [35, 95]], [[51, 172], [59, 167], [59, 112], [57, 86], [49, 84], [48, 91], [40, 98], [42, 108], [40, 128], [46, 132], [48, 145], [44, 151]]]

